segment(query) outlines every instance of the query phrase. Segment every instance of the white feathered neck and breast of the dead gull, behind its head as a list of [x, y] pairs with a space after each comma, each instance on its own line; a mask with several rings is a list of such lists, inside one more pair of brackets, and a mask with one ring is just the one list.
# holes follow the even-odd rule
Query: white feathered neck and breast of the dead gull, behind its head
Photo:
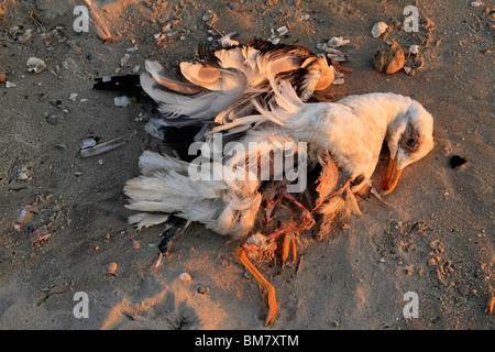
[[391, 123], [404, 116], [411, 99], [394, 94], [350, 96], [337, 103], [308, 103], [286, 127], [319, 154], [330, 152], [353, 177], [367, 180], [378, 162]]

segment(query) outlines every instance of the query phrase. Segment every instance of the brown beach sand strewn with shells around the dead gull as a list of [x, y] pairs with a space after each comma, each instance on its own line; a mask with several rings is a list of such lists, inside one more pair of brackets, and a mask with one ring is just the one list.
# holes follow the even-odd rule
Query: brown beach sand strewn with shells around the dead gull
[[[410, 2], [418, 33], [400, 29]], [[485, 314], [495, 289], [493, 1], [479, 8], [454, 0], [241, 1], [239, 12], [228, 1], [98, 3], [116, 42], [103, 44], [92, 26], [73, 30], [79, 1], [3, 2], [0, 72], [16, 86], [0, 84], [1, 329], [264, 329], [257, 284], [234, 255], [239, 243], [193, 224], [152, 270], [162, 229], [138, 232], [128, 224], [122, 188], [139, 175], [144, 150], [167, 151], [144, 131], [155, 110], [141, 100], [116, 107], [121, 95], [92, 90], [92, 78], [114, 75], [125, 54], [122, 74], [146, 58], [170, 66], [193, 59], [210, 35], [207, 10], [218, 30], [237, 31], [241, 42], [286, 25], [282, 43], [318, 52], [317, 43], [342, 35], [350, 40], [342, 66], [353, 73], [328, 92], [403, 94], [435, 117], [435, 150], [406, 168], [394, 193], [363, 200], [361, 216], [320, 242], [300, 234], [295, 264], [261, 265], [276, 288], [274, 329], [495, 328]], [[177, 33], [157, 43], [154, 34], [172, 20]], [[393, 26], [386, 37], [371, 35], [378, 21]], [[32, 36], [22, 42], [28, 30]], [[425, 63], [414, 75], [374, 69], [375, 51], [394, 41], [405, 51], [420, 46]], [[28, 72], [29, 57], [47, 68]], [[50, 114], [58, 114], [55, 124]], [[79, 142], [90, 136], [125, 143], [81, 158]], [[451, 168], [453, 155], [464, 157], [465, 167]], [[386, 162], [384, 154], [375, 185]], [[19, 179], [21, 172], [28, 179]], [[16, 231], [13, 222], [26, 205], [32, 217]], [[29, 230], [42, 226], [53, 235], [31, 244]], [[114, 275], [103, 275], [109, 263], [117, 263]], [[180, 273], [191, 279], [180, 280]], [[418, 297], [418, 318], [404, 315], [408, 292]], [[88, 298], [88, 318], [74, 315], [76, 293]]]

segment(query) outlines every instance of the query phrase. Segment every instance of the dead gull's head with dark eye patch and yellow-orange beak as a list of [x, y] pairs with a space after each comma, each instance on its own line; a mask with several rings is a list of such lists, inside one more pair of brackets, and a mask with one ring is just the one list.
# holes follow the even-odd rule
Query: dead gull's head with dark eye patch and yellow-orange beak
[[382, 184], [382, 195], [394, 190], [407, 165], [433, 148], [433, 117], [419, 102], [411, 101], [388, 124], [385, 142], [391, 151], [391, 162]]

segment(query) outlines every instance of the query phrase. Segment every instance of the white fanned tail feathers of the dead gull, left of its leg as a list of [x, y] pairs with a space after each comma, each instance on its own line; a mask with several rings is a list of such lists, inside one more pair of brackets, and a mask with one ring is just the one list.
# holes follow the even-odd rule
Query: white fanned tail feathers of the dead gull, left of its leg
[[139, 229], [162, 223], [169, 213], [234, 237], [254, 226], [261, 204], [258, 180], [233, 182], [218, 175], [195, 180], [188, 175], [188, 163], [152, 152], [143, 154], [140, 167], [144, 176], [130, 179], [124, 187], [130, 198], [125, 207], [140, 211], [129, 221]]

